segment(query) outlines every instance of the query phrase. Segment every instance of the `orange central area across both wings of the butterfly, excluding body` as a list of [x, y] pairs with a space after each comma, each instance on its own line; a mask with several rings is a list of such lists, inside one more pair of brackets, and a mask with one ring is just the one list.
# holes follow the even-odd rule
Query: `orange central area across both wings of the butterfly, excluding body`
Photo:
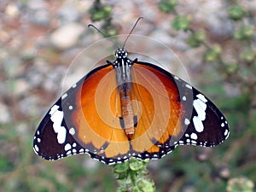
[[131, 153], [157, 153], [181, 130], [182, 107], [176, 84], [153, 67], [131, 67], [132, 110], [137, 127], [127, 137], [119, 123], [121, 104], [112, 66], [84, 80], [76, 95], [73, 123], [78, 142], [96, 154], [114, 158]]

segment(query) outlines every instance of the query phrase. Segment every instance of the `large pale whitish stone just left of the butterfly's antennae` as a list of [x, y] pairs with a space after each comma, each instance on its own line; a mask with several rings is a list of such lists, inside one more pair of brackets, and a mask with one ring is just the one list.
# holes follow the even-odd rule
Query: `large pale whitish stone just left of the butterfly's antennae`
[[84, 26], [78, 23], [69, 23], [61, 26], [50, 36], [50, 42], [57, 49], [69, 49], [77, 44]]

